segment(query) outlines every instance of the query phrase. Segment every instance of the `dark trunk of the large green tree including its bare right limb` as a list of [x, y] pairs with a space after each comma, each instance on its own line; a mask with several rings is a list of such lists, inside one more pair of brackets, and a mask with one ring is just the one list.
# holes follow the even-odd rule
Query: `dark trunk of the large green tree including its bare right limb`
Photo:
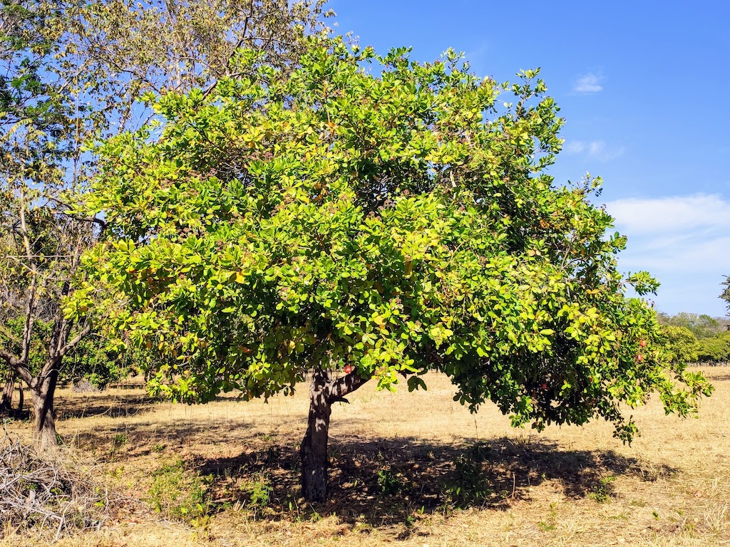
[[328, 465], [327, 443], [332, 403], [347, 403], [345, 395], [363, 385], [369, 378], [350, 373], [330, 380], [326, 371], [316, 370], [310, 385], [310, 414], [307, 432], [301, 441], [301, 494], [307, 501], [321, 502], [327, 499]]

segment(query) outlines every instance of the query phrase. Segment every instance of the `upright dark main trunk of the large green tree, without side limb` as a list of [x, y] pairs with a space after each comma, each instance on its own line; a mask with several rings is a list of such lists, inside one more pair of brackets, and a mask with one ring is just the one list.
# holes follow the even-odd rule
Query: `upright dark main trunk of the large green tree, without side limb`
[[309, 501], [327, 497], [327, 438], [332, 403], [325, 371], [315, 371], [310, 386], [310, 416], [301, 441], [301, 493]]

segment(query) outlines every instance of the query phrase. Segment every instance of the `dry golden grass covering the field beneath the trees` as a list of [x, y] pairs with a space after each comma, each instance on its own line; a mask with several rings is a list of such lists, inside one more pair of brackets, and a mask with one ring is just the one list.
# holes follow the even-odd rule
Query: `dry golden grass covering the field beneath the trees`
[[[151, 403], [135, 390], [63, 391], [61, 436], [96, 459], [127, 502], [101, 532], [58, 545], [730, 545], [730, 369], [705, 372], [716, 390], [699, 419], [664, 416], [655, 401], [634, 412], [642, 436], [631, 446], [603, 423], [512, 430], [491, 406], [472, 415], [454, 403], [441, 376], [429, 392], [366, 385], [334, 408], [322, 505], [297, 497], [306, 389], [268, 404], [205, 406]], [[164, 465], [209, 477], [199, 484], [215, 503], [197, 527], [140, 501]], [[272, 494], [253, 507], [256, 484]]]

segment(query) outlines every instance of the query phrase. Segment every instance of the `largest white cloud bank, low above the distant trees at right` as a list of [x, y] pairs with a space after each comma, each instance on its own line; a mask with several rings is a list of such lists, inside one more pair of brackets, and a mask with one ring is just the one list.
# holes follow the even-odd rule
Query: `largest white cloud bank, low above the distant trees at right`
[[621, 269], [648, 270], [661, 282], [658, 309], [725, 314], [718, 295], [730, 275], [730, 201], [708, 194], [629, 198], [606, 209], [629, 238]]

